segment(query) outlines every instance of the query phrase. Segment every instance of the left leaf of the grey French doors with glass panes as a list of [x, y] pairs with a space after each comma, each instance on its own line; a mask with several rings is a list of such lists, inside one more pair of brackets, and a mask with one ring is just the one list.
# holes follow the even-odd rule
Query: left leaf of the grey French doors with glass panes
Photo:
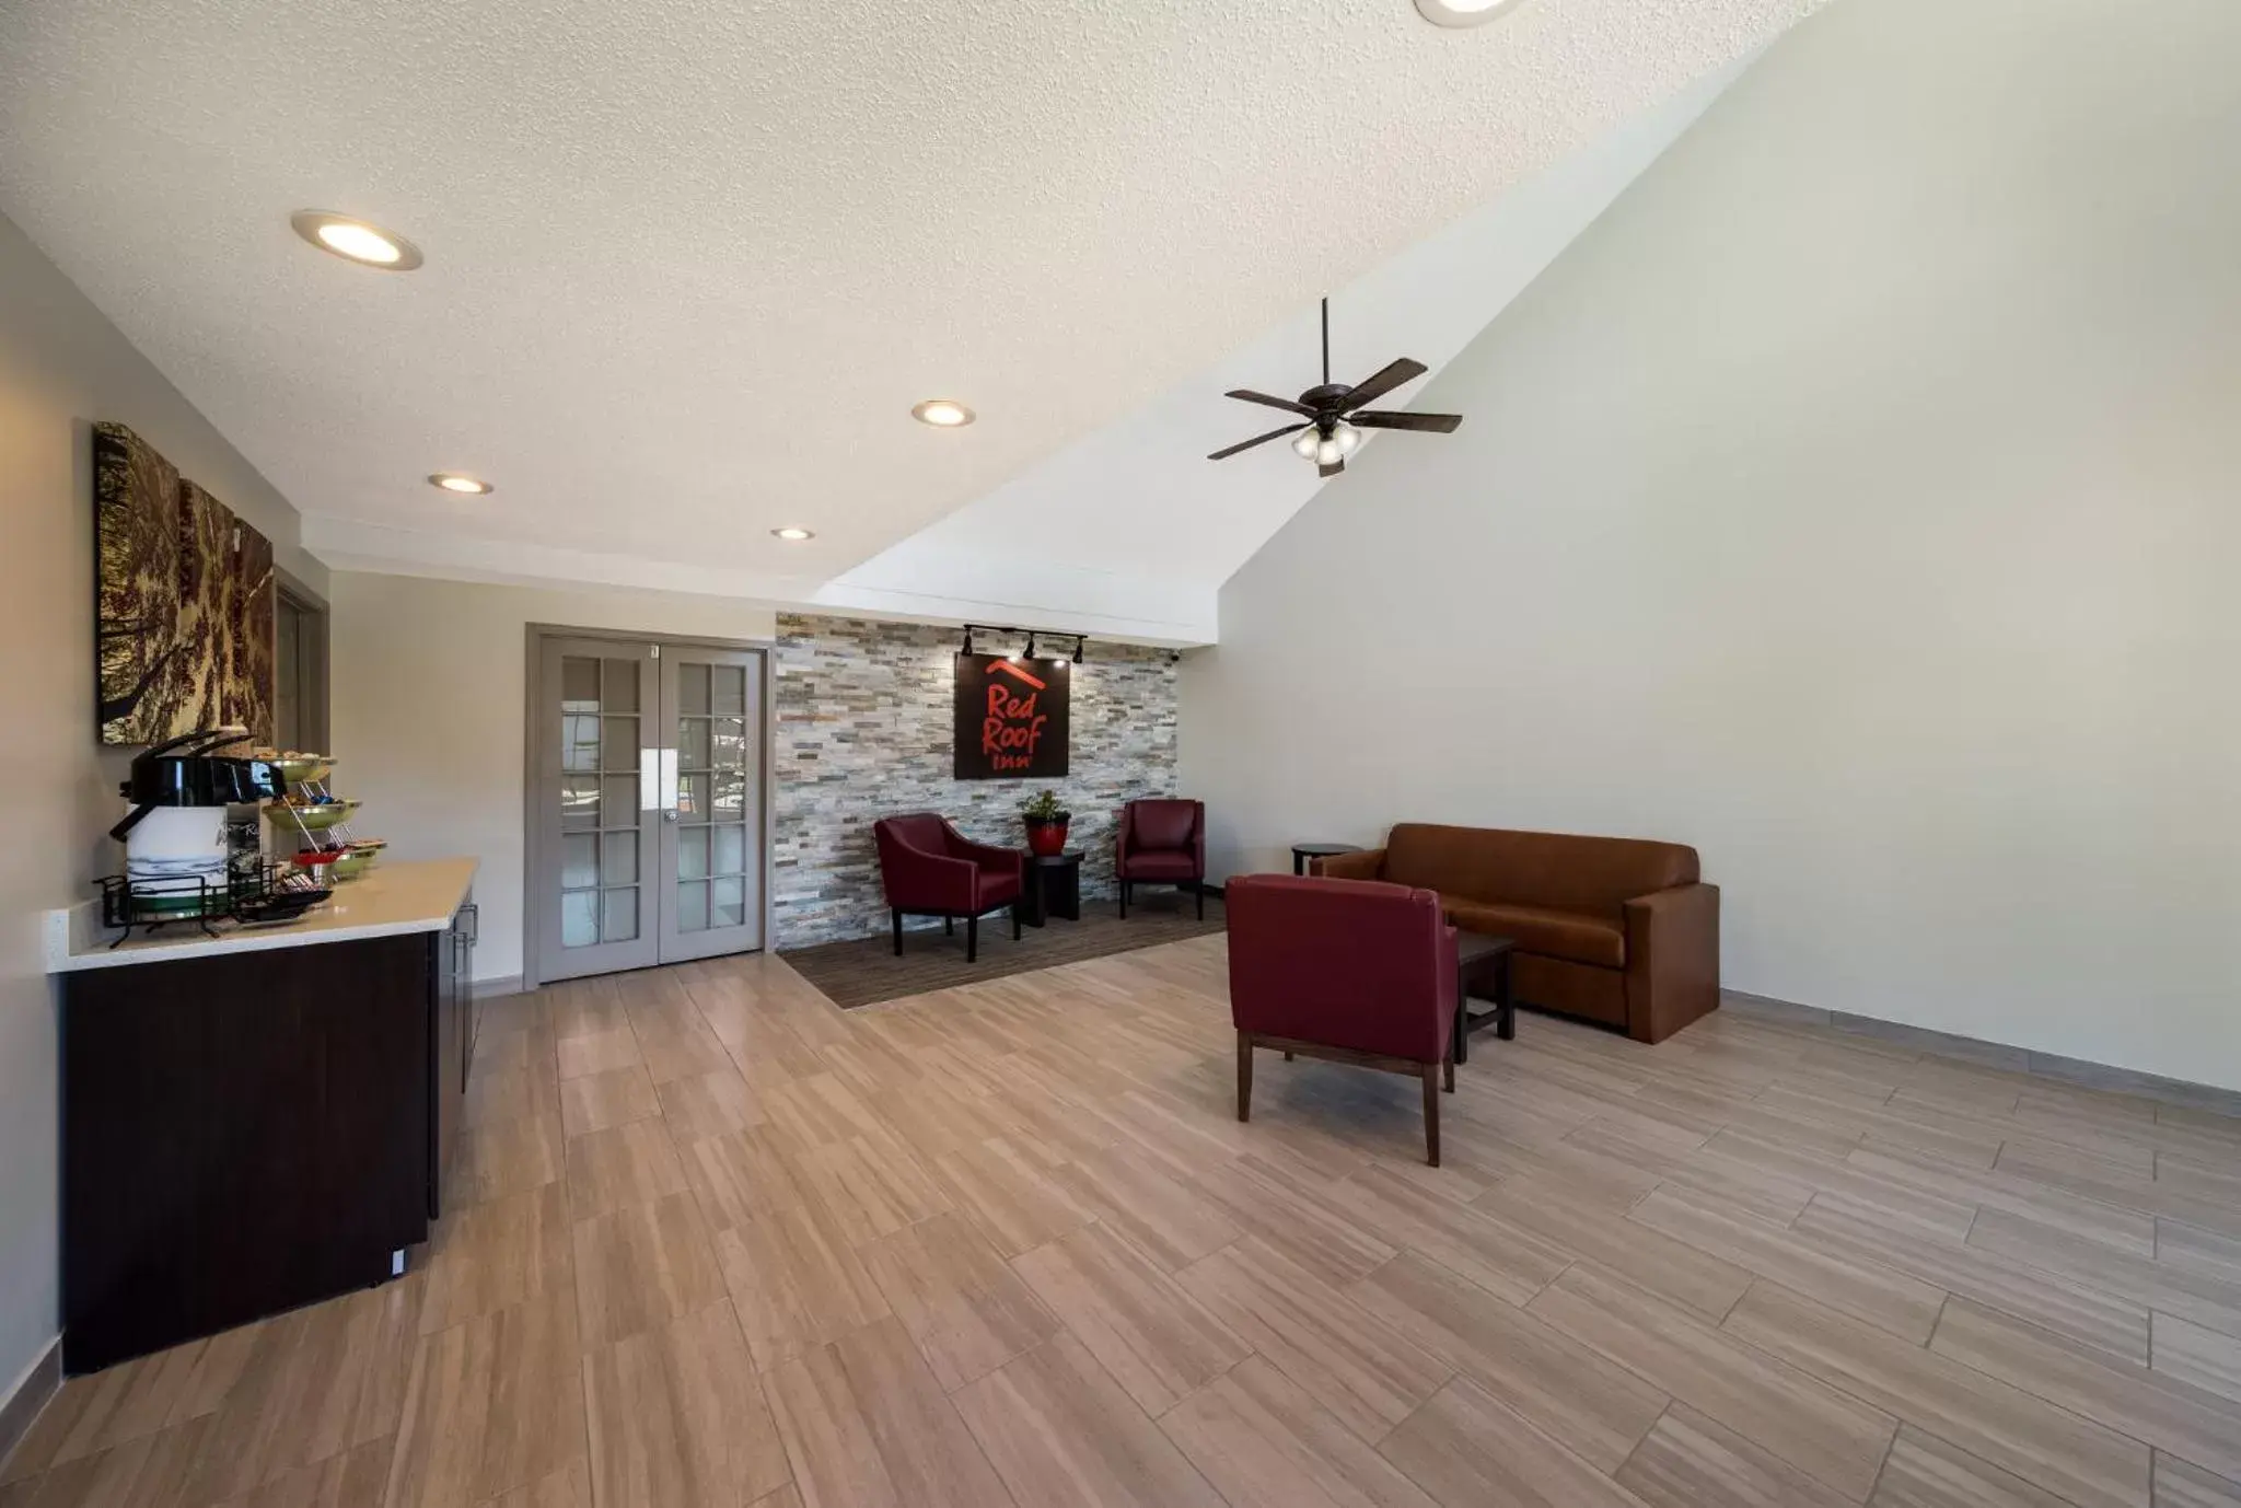
[[657, 961], [650, 648], [547, 639], [538, 681], [538, 977]]

